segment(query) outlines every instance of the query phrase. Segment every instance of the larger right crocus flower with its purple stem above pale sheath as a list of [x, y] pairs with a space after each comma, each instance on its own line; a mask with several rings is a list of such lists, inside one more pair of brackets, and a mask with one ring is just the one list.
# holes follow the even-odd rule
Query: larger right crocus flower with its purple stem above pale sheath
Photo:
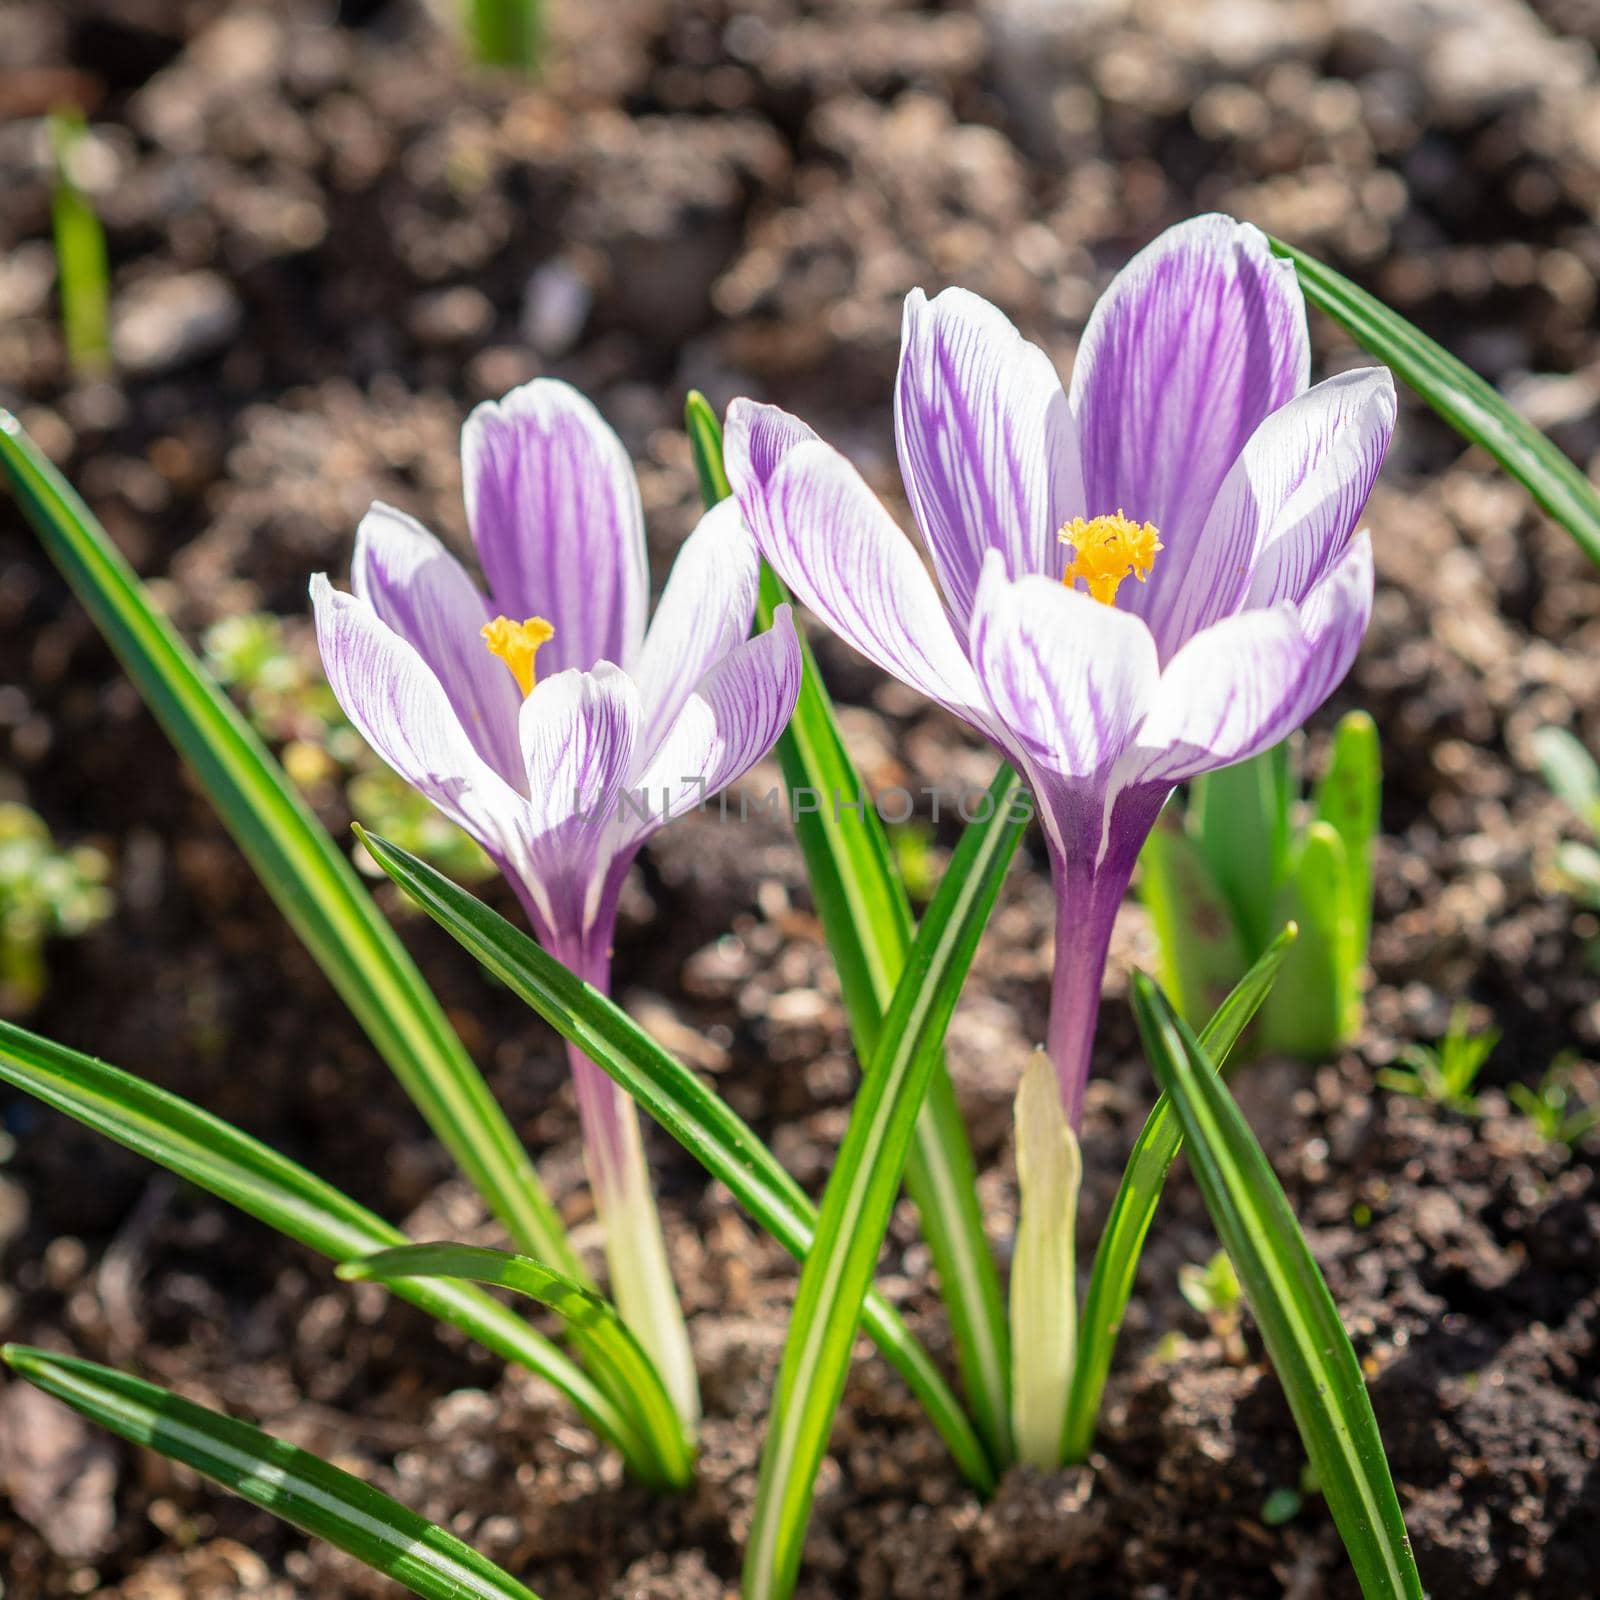
[[734, 494], [795, 595], [1035, 792], [1058, 894], [1046, 1048], [1074, 1128], [1157, 813], [1299, 726], [1366, 629], [1355, 523], [1394, 382], [1307, 387], [1309, 365], [1293, 266], [1226, 216], [1117, 275], [1066, 390], [994, 306], [912, 291], [894, 422], [933, 579], [837, 450], [774, 406], [728, 413]]

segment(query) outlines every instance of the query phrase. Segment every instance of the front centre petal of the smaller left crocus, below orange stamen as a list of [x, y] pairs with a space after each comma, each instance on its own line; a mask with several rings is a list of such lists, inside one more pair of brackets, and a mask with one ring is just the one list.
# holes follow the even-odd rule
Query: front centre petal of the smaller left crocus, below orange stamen
[[578, 938], [594, 918], [638, 725], [638, 690], [608, 661], [541, 678], [522, 704], [528, 888], [560, 938]]

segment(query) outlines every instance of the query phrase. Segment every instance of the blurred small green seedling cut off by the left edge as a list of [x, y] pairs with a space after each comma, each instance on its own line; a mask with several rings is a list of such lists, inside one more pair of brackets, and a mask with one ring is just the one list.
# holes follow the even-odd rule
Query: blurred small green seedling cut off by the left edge
[[0, 802], [0, 1016], [26, 1016], [43, 998], [46, 939], [77, 938], [110, 915], [109, 875], [101, 851], [61, 850], [40, 816]]

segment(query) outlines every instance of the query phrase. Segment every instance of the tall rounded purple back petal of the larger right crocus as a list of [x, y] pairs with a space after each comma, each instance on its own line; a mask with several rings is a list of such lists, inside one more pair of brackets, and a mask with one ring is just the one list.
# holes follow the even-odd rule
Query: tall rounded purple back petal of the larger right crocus
[[1112, 280], [1072, 370], [1086, 515], [1154, 522], [1166, 554], [1128, 610], [1166, 635], [1211, 501], [1246, 440], [1309, 381], [1306, 304], [1266, 235], [1226, 216], [1168, 229]]

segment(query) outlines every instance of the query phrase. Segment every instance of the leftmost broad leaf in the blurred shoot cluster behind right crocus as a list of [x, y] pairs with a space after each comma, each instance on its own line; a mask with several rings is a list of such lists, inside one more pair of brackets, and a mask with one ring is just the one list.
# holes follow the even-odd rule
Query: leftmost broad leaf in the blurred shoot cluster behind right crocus
[[1245, 970], [1234, 910], [1200, 846], [1163, 816], [1139, 851], [1139, 899], [1155, 928], [1162, 976], [1190, 1022], [1210, 1016]]

